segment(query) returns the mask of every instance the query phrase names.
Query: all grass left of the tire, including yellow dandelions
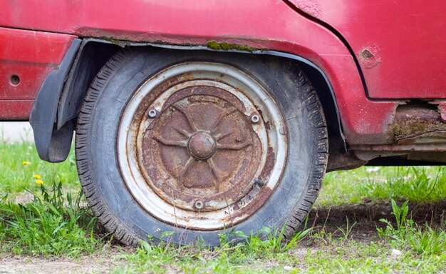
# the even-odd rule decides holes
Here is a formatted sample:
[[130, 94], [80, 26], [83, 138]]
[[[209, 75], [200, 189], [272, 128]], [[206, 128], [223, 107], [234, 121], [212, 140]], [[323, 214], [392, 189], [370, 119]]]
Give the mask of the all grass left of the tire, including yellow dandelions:
[[63, 163], [46, 163], [31, 144], [3, 142], [0, 155], [0, 253], [77, 256], [103, 245], [73, 151]]

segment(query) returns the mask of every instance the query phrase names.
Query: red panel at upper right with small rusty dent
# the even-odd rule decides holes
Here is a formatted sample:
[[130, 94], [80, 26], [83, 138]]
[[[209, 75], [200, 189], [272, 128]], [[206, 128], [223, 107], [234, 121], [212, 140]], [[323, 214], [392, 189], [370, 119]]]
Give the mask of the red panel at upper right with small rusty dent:
[[370, 98], [446, 98], [446, 1], [290, 2], [346, 39]]

